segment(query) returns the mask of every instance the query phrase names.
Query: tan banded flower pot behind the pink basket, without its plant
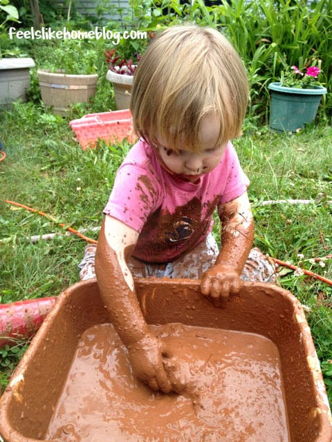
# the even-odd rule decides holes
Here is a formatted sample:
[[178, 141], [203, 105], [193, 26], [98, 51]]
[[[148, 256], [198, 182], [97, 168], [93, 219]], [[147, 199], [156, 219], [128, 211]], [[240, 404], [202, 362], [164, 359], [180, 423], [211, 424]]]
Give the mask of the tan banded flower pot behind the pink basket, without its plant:
[[42, 100], [46, 107], [53, 108], [53, 113], [66, 115], [71, 104], [89, 102], [95, 95], [98, 75], [66, 75], [61, 71], [37, 71]]

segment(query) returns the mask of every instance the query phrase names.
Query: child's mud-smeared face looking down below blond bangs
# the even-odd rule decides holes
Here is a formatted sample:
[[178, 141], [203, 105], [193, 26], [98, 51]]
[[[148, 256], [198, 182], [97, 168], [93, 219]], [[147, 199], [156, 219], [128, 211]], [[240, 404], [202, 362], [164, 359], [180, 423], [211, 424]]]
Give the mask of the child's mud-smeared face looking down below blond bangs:
[[220, 123], [215, 115], [208, 115], [203, 119], [199, 134], [201, 149], [199, 152], [174, 150], [172, 146], [165, 146], [163, 140], [158, 144], [158, 151], [169, 171], [180, 175], [185, 180], [196, 181], [214, 169], [225, 153], [227, 142], [216, 145], [219, 137]]

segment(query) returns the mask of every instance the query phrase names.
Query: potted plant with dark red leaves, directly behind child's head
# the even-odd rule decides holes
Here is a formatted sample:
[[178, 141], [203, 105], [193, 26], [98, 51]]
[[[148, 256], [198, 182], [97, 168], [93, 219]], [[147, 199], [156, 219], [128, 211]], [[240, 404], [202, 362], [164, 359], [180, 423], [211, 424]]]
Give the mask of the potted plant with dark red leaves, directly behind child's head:
[[[150, 35], [151, 37], [151, 35]], [[130, 105], [133, 74], [147, 40], [120, 39], [118, 46], [105, 52], [109, 70], [106, 78], [113, 83], [116, 108], [128, 109]]]

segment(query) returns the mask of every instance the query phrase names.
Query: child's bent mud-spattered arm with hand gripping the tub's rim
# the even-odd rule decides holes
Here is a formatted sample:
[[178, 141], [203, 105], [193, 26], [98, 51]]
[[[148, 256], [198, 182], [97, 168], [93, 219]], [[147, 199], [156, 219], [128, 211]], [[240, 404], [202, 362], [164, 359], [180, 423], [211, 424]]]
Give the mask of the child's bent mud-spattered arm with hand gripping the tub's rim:
[[212, 298], [228, 298], [239, 293], [243, 266], [254, 240], [254, 220], [248, 194], [219, 204], [221, 220], [221, 251], [216, 264], [205, 271], [201, 282], [201, 292]]

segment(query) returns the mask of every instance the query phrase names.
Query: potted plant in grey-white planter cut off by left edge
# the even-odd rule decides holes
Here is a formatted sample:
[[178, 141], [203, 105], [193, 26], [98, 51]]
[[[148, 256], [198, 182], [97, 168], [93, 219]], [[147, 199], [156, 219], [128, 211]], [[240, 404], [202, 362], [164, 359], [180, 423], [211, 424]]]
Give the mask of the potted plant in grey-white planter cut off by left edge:
[[[17, 8], [0, 0], [1, 41], [9, 46], [8, 22], [19, 21]], [[7, 46], [7, 45], [6, 45]], [[23, 57], [21, 52], [0, 47], [0, 108], [9, 108], [13, 102], [26, 100], [26, 89], [30, 86], [30, 68], [35, 62], [30, 57]]]

